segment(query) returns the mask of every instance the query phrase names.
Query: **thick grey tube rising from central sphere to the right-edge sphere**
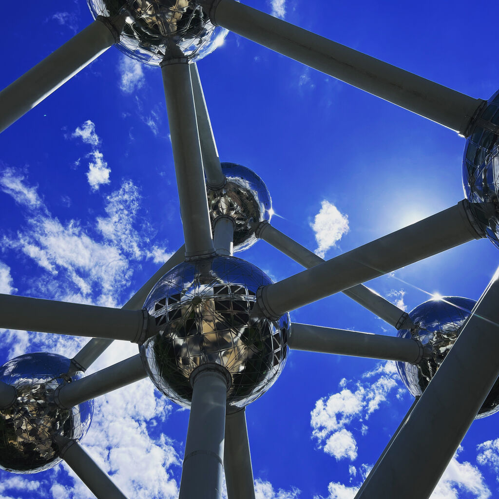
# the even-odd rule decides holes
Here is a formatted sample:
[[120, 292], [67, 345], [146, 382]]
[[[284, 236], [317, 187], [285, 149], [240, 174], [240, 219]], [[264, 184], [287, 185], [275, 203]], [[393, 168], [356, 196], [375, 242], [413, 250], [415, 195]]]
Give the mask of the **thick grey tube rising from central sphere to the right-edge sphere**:
[[269, 318], [348, 289], [473, 239], [467, 201], [343, 253], [275, 284], [259, 288], [253, 314]]

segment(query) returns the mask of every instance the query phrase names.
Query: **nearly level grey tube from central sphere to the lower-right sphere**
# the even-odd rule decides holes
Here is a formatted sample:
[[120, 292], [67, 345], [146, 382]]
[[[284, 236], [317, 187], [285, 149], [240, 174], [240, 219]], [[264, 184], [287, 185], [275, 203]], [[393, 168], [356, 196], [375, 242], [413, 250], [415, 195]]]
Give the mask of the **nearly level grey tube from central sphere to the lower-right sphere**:
[[288, 337], [291, 350], [335, 353], [353, 357], [400, 360], [416, 364], [423, 357], [419, 341], [293, 322]]

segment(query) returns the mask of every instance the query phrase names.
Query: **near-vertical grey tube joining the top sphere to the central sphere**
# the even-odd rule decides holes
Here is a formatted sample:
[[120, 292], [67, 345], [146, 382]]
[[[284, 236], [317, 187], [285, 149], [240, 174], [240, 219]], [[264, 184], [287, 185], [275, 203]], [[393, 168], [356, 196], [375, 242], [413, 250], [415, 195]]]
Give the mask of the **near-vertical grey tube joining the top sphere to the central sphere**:
[[161, 72], [170, 123], [186, 256], [213, 254], [215, 250], [188, 61], [187, 59], [164, 61]]

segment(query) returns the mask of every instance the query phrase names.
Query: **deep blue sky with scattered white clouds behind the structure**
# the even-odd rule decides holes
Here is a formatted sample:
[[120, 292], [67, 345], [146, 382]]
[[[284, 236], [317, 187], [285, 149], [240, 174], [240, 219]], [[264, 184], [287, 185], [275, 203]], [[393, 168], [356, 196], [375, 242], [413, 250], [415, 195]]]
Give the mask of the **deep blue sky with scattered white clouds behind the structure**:
[[[248, 3], [473, 97], [497, 90], [493, 2]], [[90, 22], [82, 0], [30, 2], [4, 25], [0, 87]], [[465, 141], [448, 129], [234, 34], [198, 67], [222, 161], [260, 175], [273, 225], [326, 258], [463, 199]], [[160, 71], [114, 47], [1, 134], [0, 168], [1, 292], [120, 306], [183, 243]], [[237, 256], [273, 279], [301, 270], [264, 242]], [[369, 286], [407, 310], [434, 292], [477, 299], [498, 260], [474, 241]], [[343, 295], [291, 319], [395, 334]], [[1, 363], [86, 341], [2, 338]], [[136, 352], [115, 342], [93, 368]], [[291, 352], [247, 409], [258, 499], [353, 498], [411, 403], [390, 363]], [[497, 496], [497, 417], [472, 425], [434, 499]], [[175, 498], [187, 422], [144, 380], [96, 400], [83, 444], [130, 498]], [[65, 465], [0, 472], [0, 498], [39, 497], [92, 496]]]

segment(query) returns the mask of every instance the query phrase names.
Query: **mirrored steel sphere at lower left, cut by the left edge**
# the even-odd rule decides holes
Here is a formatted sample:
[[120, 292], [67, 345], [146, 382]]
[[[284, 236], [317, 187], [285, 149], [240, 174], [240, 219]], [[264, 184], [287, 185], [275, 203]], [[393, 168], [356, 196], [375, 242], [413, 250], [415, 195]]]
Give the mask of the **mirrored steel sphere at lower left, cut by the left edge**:
[[0, 380], [17, 390], [17, 399], [0, 410], [0, 468], [37, 473], [60, 463], [57, 440], [81, 439], [93, 415], [93, 401], [72, 409], [54, 403], [54, 391], [78, 379], [68, 376], [71, 361], [53, 353], [32, 353], [0, 367]]

